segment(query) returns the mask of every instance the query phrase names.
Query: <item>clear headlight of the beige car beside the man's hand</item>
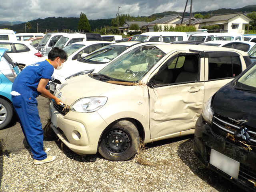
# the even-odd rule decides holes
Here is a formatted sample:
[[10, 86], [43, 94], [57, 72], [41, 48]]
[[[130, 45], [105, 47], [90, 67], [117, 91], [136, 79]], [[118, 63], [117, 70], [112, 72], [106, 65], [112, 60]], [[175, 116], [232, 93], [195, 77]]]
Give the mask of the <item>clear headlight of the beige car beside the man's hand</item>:
[[71, 105], [71, 110], [80, 113], [90, 113], [100, 109], [107, 102], [107, 97], [85, 97]]

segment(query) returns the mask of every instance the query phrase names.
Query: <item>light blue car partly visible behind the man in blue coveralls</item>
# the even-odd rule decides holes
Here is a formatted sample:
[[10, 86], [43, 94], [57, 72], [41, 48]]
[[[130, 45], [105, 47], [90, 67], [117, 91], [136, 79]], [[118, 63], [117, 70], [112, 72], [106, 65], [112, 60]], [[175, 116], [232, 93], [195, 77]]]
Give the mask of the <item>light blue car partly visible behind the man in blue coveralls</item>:
[[0, 129], [12, 120], [14, 108], [10, 92], [14, 79], [20, 73], [17, 63], [6, 54], [7, 50], [0, 48]]

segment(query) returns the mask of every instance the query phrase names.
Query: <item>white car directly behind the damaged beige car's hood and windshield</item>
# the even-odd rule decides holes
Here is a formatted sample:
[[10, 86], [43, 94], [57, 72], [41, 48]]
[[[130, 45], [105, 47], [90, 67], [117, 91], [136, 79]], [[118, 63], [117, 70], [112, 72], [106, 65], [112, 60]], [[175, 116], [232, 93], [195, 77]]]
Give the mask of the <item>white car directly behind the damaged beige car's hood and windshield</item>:
[[[91, 54], [78, 58], [72, 62], [65, 62], [61, 70], [54, 70], [50, 81], [50, 92], [54, 92], [60, 84], [74, 76], [98, 72], [107, 66], [117, 56], [129, 51], [134, 46], [152, 44], [152, 42], [126, 41], [104, 46]], [[169, 44], [166, 42], [154, 42], [154, 44]]]

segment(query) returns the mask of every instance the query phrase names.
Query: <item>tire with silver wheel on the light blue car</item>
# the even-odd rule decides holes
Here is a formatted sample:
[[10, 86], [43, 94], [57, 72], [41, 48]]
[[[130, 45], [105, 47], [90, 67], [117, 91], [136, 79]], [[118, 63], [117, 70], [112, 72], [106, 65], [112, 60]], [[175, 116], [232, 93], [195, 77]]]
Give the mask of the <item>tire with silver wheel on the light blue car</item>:
[[0, 129], [6, 127], [13, 116], [13, 107], [8, 101], [0, 98]]

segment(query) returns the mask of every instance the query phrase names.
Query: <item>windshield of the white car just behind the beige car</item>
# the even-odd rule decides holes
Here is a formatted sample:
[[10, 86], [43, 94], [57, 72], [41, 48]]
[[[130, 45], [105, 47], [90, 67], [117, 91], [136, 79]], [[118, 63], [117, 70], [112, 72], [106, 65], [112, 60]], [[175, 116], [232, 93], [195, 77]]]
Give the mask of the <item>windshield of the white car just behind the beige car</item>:
[[78, 59], [78, 61], [92, 64], [104, 64], [116, 58], [129, 47], [130, 46], [126, 45], [107, 45], [92, 52], [88, 56]]

